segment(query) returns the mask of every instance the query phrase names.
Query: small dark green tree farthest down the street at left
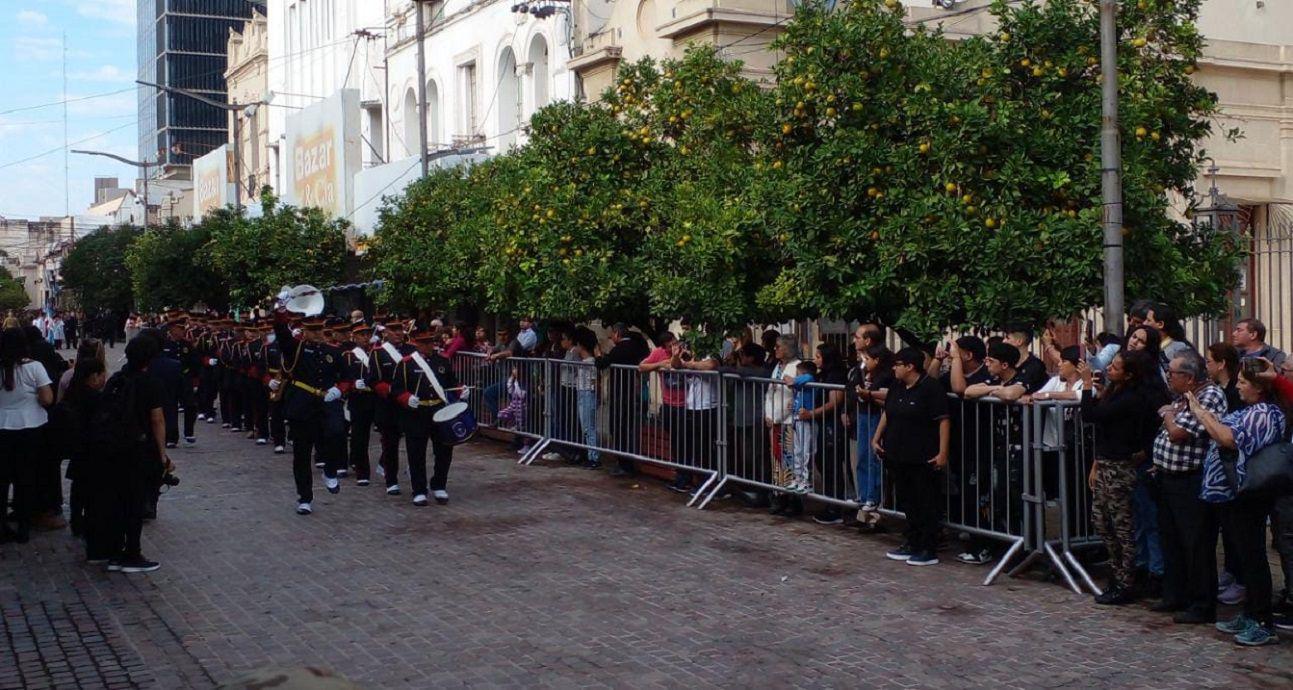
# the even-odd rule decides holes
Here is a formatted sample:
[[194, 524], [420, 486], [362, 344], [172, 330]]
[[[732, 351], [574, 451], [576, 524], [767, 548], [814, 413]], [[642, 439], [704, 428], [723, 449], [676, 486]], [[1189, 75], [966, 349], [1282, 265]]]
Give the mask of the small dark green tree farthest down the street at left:
[[138, 227], [101, 227], [72, 246], [63, 258], [65, 289], [78, 295], [81, 309], [96, 313], [109, 309], [119, 314], [132, 305], [131, 275], [125, 253], [140, 236]]

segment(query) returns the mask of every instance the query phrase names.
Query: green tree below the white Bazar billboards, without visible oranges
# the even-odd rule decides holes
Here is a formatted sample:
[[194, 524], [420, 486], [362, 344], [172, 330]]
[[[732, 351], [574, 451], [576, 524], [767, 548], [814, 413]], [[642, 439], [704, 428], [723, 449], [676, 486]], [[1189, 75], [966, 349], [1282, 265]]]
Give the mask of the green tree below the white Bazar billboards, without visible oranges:
[[345, 265], [345, 221], [317, 208], [261, 199], [264, 213], [248, 218], [225, 208], [203, 218], [209, 255], [229, 288], [229, 304], [250, 308], [273, 298], [283, 286], [340, 282]]

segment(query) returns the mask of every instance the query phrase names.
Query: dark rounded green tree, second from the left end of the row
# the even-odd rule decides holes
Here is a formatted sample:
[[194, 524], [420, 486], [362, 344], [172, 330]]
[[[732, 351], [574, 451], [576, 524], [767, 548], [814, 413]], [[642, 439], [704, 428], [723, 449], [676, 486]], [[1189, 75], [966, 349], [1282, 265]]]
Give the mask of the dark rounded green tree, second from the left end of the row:
[[137, 309], [187, 309], [199, 302], [219, 310], [229, 306], [229, 288], [208, 251], [213, 225], [199, 222], [184, 227], [172, 221], [134, 239], [125, 253], [125, 265]]

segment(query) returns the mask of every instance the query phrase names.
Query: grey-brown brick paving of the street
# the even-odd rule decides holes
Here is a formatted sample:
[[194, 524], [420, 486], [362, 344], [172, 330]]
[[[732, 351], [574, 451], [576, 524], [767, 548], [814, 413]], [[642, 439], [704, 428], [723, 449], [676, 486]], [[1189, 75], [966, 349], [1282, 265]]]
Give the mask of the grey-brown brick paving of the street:
[[287, 456], [204, 425], [145, 527], [149, 575], [66, 532], [0, 547], [0, 689], [211, 687], [269, 665], [366, 687], [1289, 686], [1293, 640], [1236, 649], [1140, 607], [654, 481], [459, 448], [453, 503], [347, 481], [294, 514]]

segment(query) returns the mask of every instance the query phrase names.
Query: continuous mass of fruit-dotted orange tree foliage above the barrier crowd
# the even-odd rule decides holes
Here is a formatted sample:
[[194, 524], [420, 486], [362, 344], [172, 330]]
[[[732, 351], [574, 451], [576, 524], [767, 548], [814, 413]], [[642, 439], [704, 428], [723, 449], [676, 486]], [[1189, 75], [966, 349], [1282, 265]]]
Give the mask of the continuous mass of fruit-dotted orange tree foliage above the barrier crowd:
[[[1230, 238], [1171, 220], [1215, 97], [1190, 80], [1199, 0], [1124, 5], [1127, 293], [1218, 310]], [[388, 200], [374, 273], [403, 308], [644, 323], [879, 317], [928, 335], [1102, 298], [1099, 26], [997, 3], [949, 41], [899, 3], [800, 4], [764, 90], [712, 48], [621, 67], [537, 112], [524, 147]]]

